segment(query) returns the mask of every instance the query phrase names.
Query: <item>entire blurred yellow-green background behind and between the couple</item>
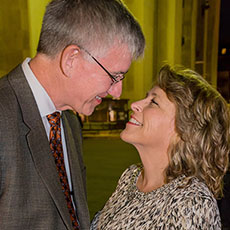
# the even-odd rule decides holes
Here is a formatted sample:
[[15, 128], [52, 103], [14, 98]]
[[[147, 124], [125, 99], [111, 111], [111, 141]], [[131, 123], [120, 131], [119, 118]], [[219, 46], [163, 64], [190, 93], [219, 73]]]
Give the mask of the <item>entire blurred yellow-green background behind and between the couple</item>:
[[[0, 76], [36, 54], [49, 0], [0, 0]], [[124, 0], [140, 22], [146, 50], [132, 64], [120, 99], [106, 98], [83, 125], [91, 217], [116, 187], [121, 173], [139, 158], [119, 139], [130, 103], [145, 96], [165, 63], [200, 73], [230, 101], [229, 0]]]

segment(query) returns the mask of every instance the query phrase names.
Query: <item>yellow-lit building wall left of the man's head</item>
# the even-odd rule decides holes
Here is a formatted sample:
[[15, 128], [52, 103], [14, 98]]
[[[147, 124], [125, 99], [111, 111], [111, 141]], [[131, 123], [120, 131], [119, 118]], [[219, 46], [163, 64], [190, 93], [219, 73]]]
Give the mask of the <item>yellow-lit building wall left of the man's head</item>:
[[0, 76], [36, 53], [42, 17], [49, 0], [1, 0]]

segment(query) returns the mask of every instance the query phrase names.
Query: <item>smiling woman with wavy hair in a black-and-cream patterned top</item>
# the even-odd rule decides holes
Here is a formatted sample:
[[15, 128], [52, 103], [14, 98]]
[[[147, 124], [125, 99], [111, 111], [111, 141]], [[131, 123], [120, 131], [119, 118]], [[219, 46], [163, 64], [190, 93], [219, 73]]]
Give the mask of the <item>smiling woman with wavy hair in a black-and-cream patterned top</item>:
[[230, 149], [225, 100], [197, 73], [166, 65], [131, 108], [121, 138], [142, 164], [122, 174], [91, 229], [221, 229], [216, 198]]

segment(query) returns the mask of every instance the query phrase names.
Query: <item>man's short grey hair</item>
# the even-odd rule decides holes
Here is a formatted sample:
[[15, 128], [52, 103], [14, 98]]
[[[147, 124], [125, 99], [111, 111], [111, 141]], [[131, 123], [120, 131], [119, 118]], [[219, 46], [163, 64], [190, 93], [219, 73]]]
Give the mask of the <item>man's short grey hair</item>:
[[55, 56], [74, 44], [99, 55], [115, 41], [127, 44], [133, 59], [144, 53], [141, 27], [120, 0], [52, 0], [37, 51]]

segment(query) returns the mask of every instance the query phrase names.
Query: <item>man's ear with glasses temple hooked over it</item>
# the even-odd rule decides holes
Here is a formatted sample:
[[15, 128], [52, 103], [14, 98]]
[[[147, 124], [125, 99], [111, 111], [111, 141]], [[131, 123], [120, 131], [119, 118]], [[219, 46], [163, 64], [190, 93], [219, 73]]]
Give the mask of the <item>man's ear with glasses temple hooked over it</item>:
[[76, 45], [67, 46], [60, 57], [60, 68], [66, 77], [71, 77], [74, 61], [77, 60], [80, 48]]

